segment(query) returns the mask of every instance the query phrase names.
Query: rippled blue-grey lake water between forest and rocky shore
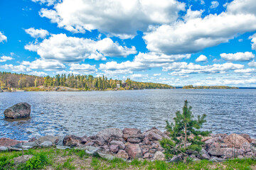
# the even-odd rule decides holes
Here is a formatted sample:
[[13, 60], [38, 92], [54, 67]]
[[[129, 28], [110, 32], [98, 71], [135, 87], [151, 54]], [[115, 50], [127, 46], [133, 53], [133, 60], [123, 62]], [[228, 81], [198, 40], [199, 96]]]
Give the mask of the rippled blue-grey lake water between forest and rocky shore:
[[[95, 135], [104, 128], [164, 130], [188, 100], [194, 115], [207, 114], [205, 130], [256, 137], [255, 89], [159, 89], [140, 91], [0, 93], [0, 137]], [[4, 120], [4, 109], [31, 104], [31, 119]], [[196, 116], [195, 116], [196, 117]]]

